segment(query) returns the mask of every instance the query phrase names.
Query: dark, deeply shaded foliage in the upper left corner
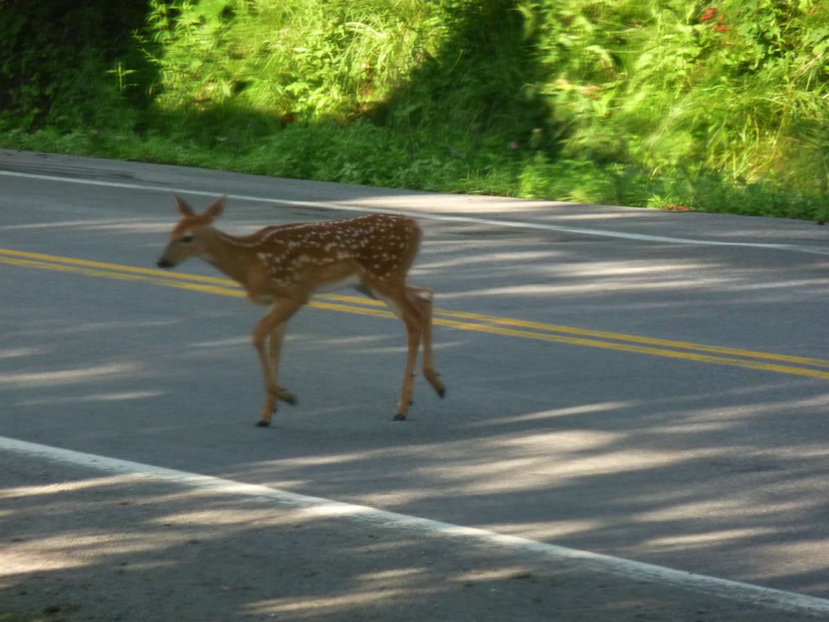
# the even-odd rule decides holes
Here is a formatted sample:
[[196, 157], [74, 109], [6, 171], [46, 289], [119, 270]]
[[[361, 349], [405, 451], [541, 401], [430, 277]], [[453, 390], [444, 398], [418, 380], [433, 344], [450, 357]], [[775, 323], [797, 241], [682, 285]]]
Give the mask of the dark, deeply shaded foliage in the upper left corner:
[[143, 18], [134, 3], [4, 0], [0, 127], [72, 131], [132, 119], [143, 90], [134, 88], [124, 63], [143, 64], [129, 34]]

